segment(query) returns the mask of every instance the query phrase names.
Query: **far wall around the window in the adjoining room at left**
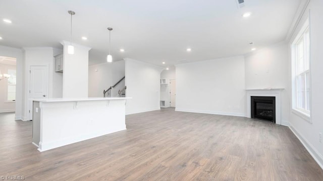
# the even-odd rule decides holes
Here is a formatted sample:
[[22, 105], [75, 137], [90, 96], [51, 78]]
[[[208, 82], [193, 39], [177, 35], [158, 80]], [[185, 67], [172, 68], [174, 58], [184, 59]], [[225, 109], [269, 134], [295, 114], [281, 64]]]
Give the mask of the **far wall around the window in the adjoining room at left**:
[[[8, 69], [16, 70], [15, 65], [7, 65], [0, 63], [0, 72], [2, 74], [8, 73]], [[8, 88], [8, 78], [0, 80], [0, 113], [15, 112], [16, 103], [8, 102], [7, 100], [7, 88]]]

